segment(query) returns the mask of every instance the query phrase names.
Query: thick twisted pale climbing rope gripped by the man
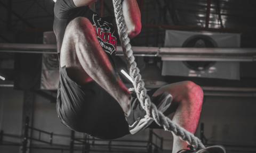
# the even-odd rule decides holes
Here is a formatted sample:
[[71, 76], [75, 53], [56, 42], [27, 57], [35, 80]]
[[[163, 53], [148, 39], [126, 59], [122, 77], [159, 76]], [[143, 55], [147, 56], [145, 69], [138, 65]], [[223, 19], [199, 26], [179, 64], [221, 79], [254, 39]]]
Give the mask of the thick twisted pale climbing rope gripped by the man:
[[141, 106], [143, 107], [143, 109], [145, 109], [147, 115], [153, 118], [158, 125], [163, 126], [166, 131], [173, 132], [182, 140], [187, 141], [189, 145], [194, 146], [195, 149], [205, 148], [200, 139], [195, 137], [194, 134], [183, 129], [178, 124], [172, 122], [170, 118], [164, 116], [164, 114], [162, 112], [159, 112], [156, 106], [151, 103], [150, 97], [147, 95], [147, 90], [144, 87], [145, 83], [141, 79], [140, 70], [137, 67], [137, 63], [134, 61], [132, 46], [130, 44], [130, 39], [127, 34], [127, 27], [124, 21], [121, 2], [122, 0], [113, 0], [116, 24], [121, 40], [121, 45], [123, 47], [126, 64], [130, 73], [130, 77], [133, 80], [134, 90], [137, 94]]

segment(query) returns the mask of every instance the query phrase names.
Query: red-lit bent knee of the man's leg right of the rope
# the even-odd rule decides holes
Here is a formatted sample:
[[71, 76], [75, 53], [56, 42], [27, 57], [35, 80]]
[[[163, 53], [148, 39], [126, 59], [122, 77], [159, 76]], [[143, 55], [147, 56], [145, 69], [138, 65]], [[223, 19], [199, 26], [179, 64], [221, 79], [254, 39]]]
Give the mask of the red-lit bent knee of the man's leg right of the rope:
[[192, 81], [185, 81], [185, 94], [183, 98], [186, 98], [188, 103], [192, 105], [202, 105], [204, 92], [203, 89]]

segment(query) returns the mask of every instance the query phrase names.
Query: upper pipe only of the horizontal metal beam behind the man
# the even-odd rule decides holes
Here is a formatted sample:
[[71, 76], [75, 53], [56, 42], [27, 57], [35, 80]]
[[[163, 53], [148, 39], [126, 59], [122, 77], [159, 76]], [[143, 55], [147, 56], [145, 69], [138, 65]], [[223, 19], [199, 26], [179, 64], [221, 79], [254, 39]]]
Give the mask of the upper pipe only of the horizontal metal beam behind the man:
[[[169, 48], [169, 47], [132, 47], [133, 51], [138, 54], [161, 54], [161, 55], [173, 55], [173, 54], [206, 54], [206, 55], [256, 55], [256, 48]], [[0, 52], [42, 52], [42, 53], [57, 53], [56, 45], [49, 44], [9, 44], [9, 43], [0, 43]], [[117, 46], [117, 54], [122, 53], [122, 47]]]

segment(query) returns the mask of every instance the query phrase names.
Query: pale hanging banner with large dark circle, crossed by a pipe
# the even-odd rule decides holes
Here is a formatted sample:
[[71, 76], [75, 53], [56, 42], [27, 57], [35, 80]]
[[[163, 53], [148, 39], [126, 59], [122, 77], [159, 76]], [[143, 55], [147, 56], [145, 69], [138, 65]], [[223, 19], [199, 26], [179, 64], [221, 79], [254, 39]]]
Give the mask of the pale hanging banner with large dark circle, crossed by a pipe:
[[[165, 47], [236, 48], [240, 34], [166, 30]], [[163, 61], [162, 75], [239, 80], [239, 62]]]

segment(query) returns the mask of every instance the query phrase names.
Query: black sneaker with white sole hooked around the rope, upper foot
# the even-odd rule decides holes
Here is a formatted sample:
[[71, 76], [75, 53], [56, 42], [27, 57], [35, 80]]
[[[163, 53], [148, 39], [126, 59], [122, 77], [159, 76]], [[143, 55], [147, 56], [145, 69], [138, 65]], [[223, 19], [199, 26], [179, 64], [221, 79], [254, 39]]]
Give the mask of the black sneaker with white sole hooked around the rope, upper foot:
[[[171, 101], [172, 96], [167, 92], [164, 92], [157, 97], [152, 97], [152, 102], [156, 104], [157, 109], [161, 112], [166, 111], [166, 109], [171, 105]], [[137, 97], [131, 100], [130, 108], [131, 111], [126, 116], [126, 121], [129, 124], [129, 131], [131, 134], [135, 134], [145, 129], [153, 122], [153, 119], [149, 117], [146, 111], [141, 107]]]

